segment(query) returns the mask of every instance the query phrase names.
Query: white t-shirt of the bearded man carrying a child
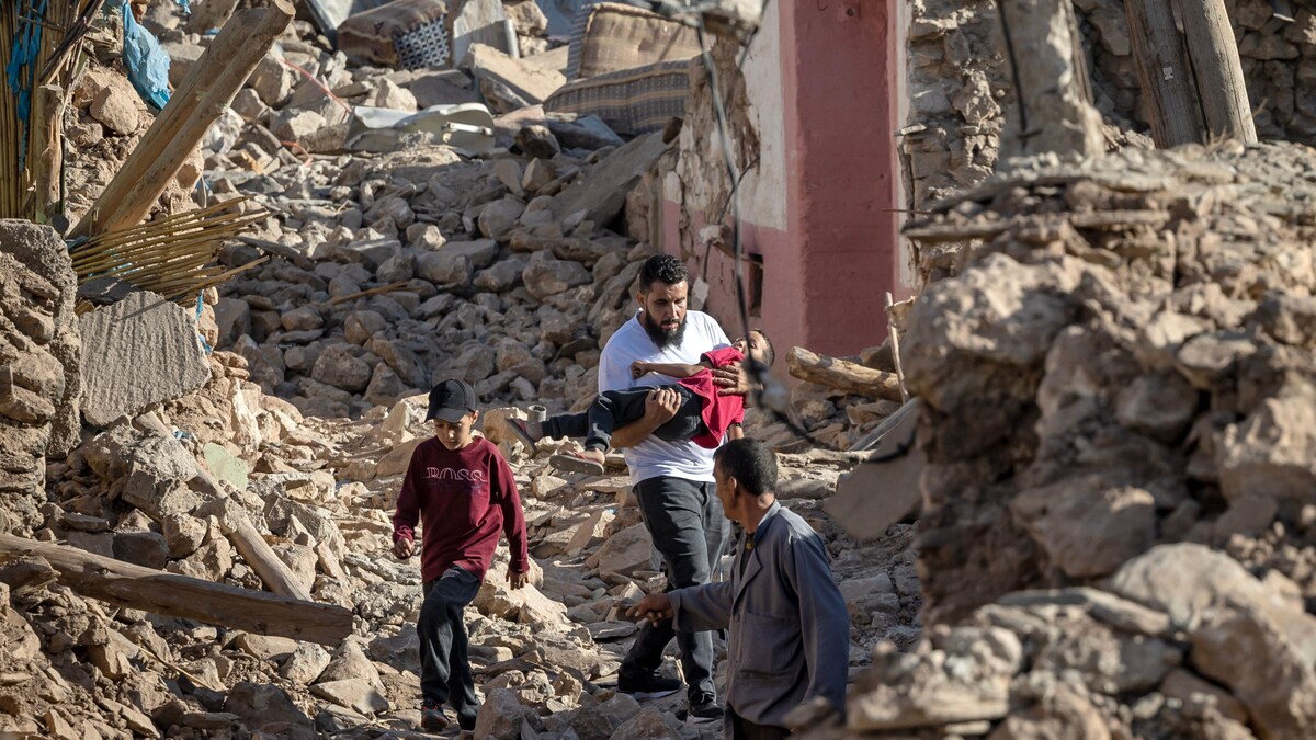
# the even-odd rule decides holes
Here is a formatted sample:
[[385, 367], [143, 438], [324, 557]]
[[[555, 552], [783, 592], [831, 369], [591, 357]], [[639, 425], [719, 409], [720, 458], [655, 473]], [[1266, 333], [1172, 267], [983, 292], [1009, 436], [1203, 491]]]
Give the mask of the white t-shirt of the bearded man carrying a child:
[[[663, 362], [675, 365], [695, 365], [705, 352], [728, 346], [732, 342], [712, 316], [700, 311], [686, 312], [686, 334], [679, 345], [658, 349], [645, 328], [640, 324], [637, 311], [629, 321], [612, 334], [599, 358], [599, 392], [624, 391], [637, 386], [669, 386], [676, 379], [658, 373], [649, 373], [638, 381], [630, 377], [630, 363]], [[649, 436], [633, 448], [622, 450], [630, 467], [630, 483], [671, 475], [686, 481], [713, 479], [713, 450], [691, 441], [669, 442]]]

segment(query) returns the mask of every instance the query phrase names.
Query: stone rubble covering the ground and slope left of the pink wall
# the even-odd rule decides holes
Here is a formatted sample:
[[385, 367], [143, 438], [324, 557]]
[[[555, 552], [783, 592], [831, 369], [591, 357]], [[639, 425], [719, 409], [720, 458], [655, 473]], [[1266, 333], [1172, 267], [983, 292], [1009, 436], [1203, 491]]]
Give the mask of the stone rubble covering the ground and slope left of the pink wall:
[[[150, 4], [146, 22], [174, 57], [174, 75], [199, 55], [204, 18]], [[533, 21], [521, 28], [528, 38], [537, 38]], [[499, 433], [513, 406], [557, 411], [592, 396], [599, 348], [629, 317], [638, 263], [653, 253], [634, 238], [647, 204], [628, 194], [666, 149], [662, 134], [622, 142], [597, 124], [501, 100], [492, 107], [511, 112], [491, 155], [415, 142], [345, 154], [347, 104], [415, 109], [499, 90], [459, 71], [357, 67], [296, 25], [162, 199], [166, 209], [218, 199], [270, 213], [224, 254], [229, 266], [270, 262], [203, 296], [197, 332], [213, 350], [196, 358], [200, 387], [133, 423], [137, 410], [84, 425], [79, 438], [87, 319], [74, 304], [84, 296], [74, 295], [50, 232], [3, 230], [0, 258], [14, 269], [0, 275], [0, 349], [16, 370], [0, 387], [0, 520], [18, 536], [262, 589], [230, 537], [238, 512], [315, 599], [353, 611], [354, 633], [325, 648], [111, 607], [55, 582], [49, 564], [18, 558], [0, 565], [0, 731], [413, 732], [418, 561], [388, 554], [391, 515], [426, 435], [420, 394], [461, 377], [487, 403], [483, 431], [517, 471], [537, 565], [522, 591], [507, 590], [495, 568], [467, 612], [486, 702], [475, 735], [717, 735], [716, 724], [680, 722], [679, 697], [638, 704], [609, 689], [634, 632], [615, 604], [662, 586], [624, 467], [557, 474], [546, 454], [529, 460]], [[92, 34], [100, 65], [70, 113], [71, 216], [153, 120], [114, 66], [116, 38], [112, 25]], [[93, 362], [83, 349], [82, 361]], [[883, 353], [873, 356], [880, 365]], [[792, 402], [808, 429], [837, 445], [895, 408], [811, 384]], [[807, 445], [780, 423], [755, 417], [751, 433], [790, 450], [788, 503], [826, 536], [851, 607], [851, 668], [883, 641], [915, 644], [912, 527], [854, 542], [820, 506], [842, 467], [795, 454]], [[217, 492], [200, 483], [201, 470]]]

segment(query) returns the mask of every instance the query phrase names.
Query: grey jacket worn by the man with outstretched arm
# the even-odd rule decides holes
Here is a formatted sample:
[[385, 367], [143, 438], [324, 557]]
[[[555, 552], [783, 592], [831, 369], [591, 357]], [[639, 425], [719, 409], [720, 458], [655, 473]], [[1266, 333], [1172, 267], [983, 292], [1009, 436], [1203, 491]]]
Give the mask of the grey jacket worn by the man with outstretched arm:
[[[832, 581], [826, 548], [799, 515], [774, 503], [732, 579], [667, 594], [683, 632], [729, 628], [726, 704], [740, 716], [784, 727], [807, 698], [845, 711], [850, 615]], [[741, 560], [745, 575], [741, 575]]]

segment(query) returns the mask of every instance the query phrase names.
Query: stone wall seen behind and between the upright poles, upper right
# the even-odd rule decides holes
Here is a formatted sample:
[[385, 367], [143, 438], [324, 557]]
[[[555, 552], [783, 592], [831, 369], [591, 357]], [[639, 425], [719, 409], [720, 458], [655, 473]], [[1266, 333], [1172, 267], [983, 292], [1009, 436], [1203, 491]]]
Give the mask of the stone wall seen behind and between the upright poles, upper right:
[[[1286, 21], [1270, 0], [1225, 0], [1262, 140], [1316, 144], [1316, 13]], [[1074, 0], [1092, 97], [1107, 124], [1148, 133], [1123, 0]], [[909, 120], [901, 154], [909, 205], [983, 182], [1012, 115], [1009, 63], [991, 0], [915, 0]]]

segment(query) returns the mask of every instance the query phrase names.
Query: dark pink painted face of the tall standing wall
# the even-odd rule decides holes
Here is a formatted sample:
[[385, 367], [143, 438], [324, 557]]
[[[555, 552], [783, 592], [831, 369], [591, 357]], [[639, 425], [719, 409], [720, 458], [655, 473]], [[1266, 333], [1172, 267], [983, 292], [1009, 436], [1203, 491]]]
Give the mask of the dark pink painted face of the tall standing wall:
[[896, 300], [908, 292], [899, 284], [895, 212], [896, 13], [873, 0], [775, 5], [788, 244], [765, 255], [765, 290], [792, 300], [765, 304], [765, 321], [797, 325], [816, 352], [848, 354], [886, 337], [884, 291]]

